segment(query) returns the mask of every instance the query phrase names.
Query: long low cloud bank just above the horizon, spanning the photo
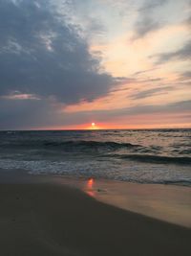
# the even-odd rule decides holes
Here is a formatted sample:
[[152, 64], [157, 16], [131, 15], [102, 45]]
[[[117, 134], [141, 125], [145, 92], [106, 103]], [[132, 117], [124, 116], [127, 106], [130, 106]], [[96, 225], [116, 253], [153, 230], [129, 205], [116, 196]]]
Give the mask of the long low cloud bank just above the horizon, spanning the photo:
[[[60, 105], [51, 100], [3, 99], [0, 101], [0, 129], [64, 128], [65, 126], [76, 126], [77, 128], [77, 125], [90, 123], [93, 119], [97, 123], [113, 122], [117, 124], [118, 118], [126, 120], [126, 122], [133, 118], [137, 122], [140, 121], [141, 116], [146, 115], [153, 115], [152, 122], [155, 123], [156, 114], [159, 114], [157, 120], [168, 114], [185, 117], [190, 113], [190, 109], [191, 101], [183, 101], [168, 105], [136, 105], [120, 109], [67, 113], [60, 111]], [[187, 118], [187, 121], [189, 120]], [[141, 122], [144, 123], [144, 120]], [[134, 126], [133, 123], [131, 125]]]

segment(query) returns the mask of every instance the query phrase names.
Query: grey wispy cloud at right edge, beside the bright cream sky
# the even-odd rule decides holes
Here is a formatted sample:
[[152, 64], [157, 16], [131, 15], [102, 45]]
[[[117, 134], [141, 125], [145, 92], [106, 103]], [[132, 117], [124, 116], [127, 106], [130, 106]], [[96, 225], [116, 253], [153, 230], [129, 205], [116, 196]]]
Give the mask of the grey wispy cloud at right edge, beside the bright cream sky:
[[166, 61], [181, 59], [187, 60], [191, 59], [191, 41], [188, 41], [182, 48], [178, 51], [170, 52], [170, 53], [162, 53], [159, 55], [152, 56], [151, 58], [157, 58], [157, 64], [161, 64]]

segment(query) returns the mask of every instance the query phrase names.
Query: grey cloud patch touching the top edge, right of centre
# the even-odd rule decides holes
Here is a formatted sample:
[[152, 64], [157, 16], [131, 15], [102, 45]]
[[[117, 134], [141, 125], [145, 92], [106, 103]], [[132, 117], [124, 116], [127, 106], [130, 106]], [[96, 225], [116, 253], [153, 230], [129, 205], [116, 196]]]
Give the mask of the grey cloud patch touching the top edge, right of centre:
[[159, 30], [162, 26], [159, 20], [153, 17], [153, 11], [159, 8], [163, 4], [168, 2], [167, 0], [146, 0], [142, 7], [138, 9], [138, 21], [135, 24], [135, 36], [134, 39], [141, 38], [153, 31]]

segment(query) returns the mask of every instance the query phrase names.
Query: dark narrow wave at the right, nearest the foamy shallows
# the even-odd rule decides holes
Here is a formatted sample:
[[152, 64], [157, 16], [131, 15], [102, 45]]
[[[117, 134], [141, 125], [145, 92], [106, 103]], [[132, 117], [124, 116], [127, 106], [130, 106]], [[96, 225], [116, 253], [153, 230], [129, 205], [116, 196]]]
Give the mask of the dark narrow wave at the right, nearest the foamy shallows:
[[152, 154], [110, 154], [110, 156], [115, 156], [121, 159], [136, 160], [139, 162], [146, 163], [159, 163], [159, 164], [191, 164], [191, 157], [173, 157], [173, 156], [163, 156], [163, 155], [152, 155]]

